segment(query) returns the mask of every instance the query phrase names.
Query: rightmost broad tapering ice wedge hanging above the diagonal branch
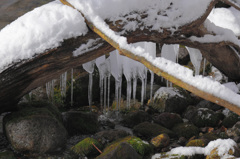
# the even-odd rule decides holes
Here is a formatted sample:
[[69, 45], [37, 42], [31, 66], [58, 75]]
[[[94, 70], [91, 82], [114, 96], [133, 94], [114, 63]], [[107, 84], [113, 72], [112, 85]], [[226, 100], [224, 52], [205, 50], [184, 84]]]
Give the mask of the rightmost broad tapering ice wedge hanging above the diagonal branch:
[[199, 75], [200, 73], [200, 67], [202, 62], [202, 54], [200, 50], [186, 47], [188, 50], [188, 53], [190, 55], [190, 60], [195, 68], [195, 75]]

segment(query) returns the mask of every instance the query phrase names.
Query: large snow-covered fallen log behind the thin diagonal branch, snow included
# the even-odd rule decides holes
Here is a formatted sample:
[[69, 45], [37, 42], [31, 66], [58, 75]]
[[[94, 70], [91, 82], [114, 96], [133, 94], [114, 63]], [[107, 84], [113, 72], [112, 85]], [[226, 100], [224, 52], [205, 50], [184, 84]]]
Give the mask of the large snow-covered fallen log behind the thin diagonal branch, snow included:
[[[189, 2], [187, 0], [181, 1], [182, 3]], [[81, 2], [81, 0], [78, 2]], [[161, 3], [161, 0], [156, 0], [154, 2], [158, 4]], [[206, 20], [218, 0], [204, 0], [201, 2], [194, 0], [190, 2], [190, 5], [194, 5], [194, 3], [197, 2], [202, 5], [202, 8], [201, 10], [198, 10], [198, 14], [194, 14], [195, 17], [190, 17], [191, 20], [189, 20], [187, 17], [183, 17], [190, 15], [190, 13], [174, 15], [172, 17], [173, 13], [177, 14], [177, 12], [172, 12], [172, 10], [175, 10], [176, 7], [180, 6], [178, 5], [180, 4], [179, 0], [171, 0], [165, 2], [165, 9], [153, 9], [151, 8], [151, 5], [148, 6], [149, 8], [142, 8], [142, 10], [136, 10], [134, 7], [129, 7], [130, 10], [124, 10], [124, 14], [117, 16], [114, 14], [109, 14], [109, 17], [106, 17], [106, 15], [103, 14], [101, 16], [103, 19], [105, 19], [105, 22], [108, 24], [110, 29], [126, 37], [128, 43], [152, 41], [156, 43], [182, 44], [197, 48], [202, 51], [202, 54], [205, 58], [207, 58], [219, 70], [225, 73], [225, 75], [233, 80], [240, 81], [240, 47], [237, 36], [234, 35], [234, 33], [231, 31], [226, 33], [226, 29], [211, 25], [212, 23], [210, 23], [209, 20]], [[74, 3], [77, 3], [77, 1]], [[49, 7], [51, 9], [48, 8], [48, 5], [51, 5]], [[195, 5], [199, 7], [199, 4]], [[52, 21], [59, 18], [59, 16], [63, 16], [61, 13], [57, 12], [57, 9], [55, 10], [54, 7], [56, 6], [58, 6], [57, 9], [61, 13], [71, 12], [72, 14], [75, 14], [76, 17], [79, 16], [81, 18], [81, 14], [77, 14], [73, 11], [68, 11], [67, 8], [61, 6], [60, 2], [57, 1], [40, 7], [38, 10], [44, 12], [48, 9], [47, 11], [50, 12], [53, 16], [48, 16], [44, 20]], [[189, 6], [187, 7], [189, 8]], [[181, 11], [181, 8], [178, 9]], [[28, 13], [28, 16], [33, 16], [31, 18], [31, 23], [38, 22], [39, 20], [37, 18], [39, 15], [36, 14], [36, 12], [37, 11], [34, 10]], [[192, 12], [195, 13], [196, 11], [192, 10]], [[25, 18], [28, 19], [26, 16]], [[65, 17], [65, 19], [66, 18], [68, 18], [68, 20], [70, 19], [67, 21], [69, 24], [72, 22], [72, 25], [74, 25], [76, 19]], [[172, 20], [178, 23], [174, 25], [160, 23], [163, 22], [162, 20], [164, 20], [164, 18], [168, 18], [166, 22], [171, 22]], [[24, 17], [22, 20], [24, 20]], [[1, 36], [3, 36], [5, 32], [11, 31], [14, 26], [17, 26], [17, 23], [19, 21], [21, 21], [21, 18], [13, 22], [10, 26], [1, 30], [1, 46], [1, 43], [4, 39]], [[60, 20], [58, 20], [58, 22], [59, 21]], [[63, 23], [62, 21], [54, 24], [49, 23], [50, 26], [47, 29], [52, 29], [53, 31], [53, 34], [50, 35], [59, 35], [59, 32], [63, 31], [61, 27], [65, 28], [70, 26], [68, 23], [66, 23]], [[27, 22], [24, 23], [24, 25], [27, 25]], [[26, 57], [24, 56], [22, 58], [12, 58], [14, 60], [7, 58], [9, 62], [0, 63], [0, 112], [15, 108], [15, 104], [24, 94], [28, 93], [38, 86], [44, 85], [46, 82], [50, 81], [53, 78], [58, 78], [63, 72], [69, 70], [70, 68], [82, 65], [83, 63], [96, 59], [103, 54], [108, 54], [114, 50], [111, 45], [101, 39], [97, 34], [91, 30], [88, 30], [85, 26], [85, 23], [82, 23], [81, 19], [79, 19], [79, 24], [72, 29], [77, 30], [77, 27], [79, 27], [79, 29], [80, 27], [81, 29], [85, 28], [85, 30], [83, 29], [84, 31], [78, 35], [72, 33], [71, 35], [64, 36], [63, 38], [61, 37], [62, 39], [55, 42], [54, 44], [47, 43], [46, 45], [39, 47], [38, 45], [40, 45], [40, 43], [36, 42], [34, 45], [31, 45], [31, 49], [23, 50], [23, 52], [29, 51], [31, 54], [30, 57], [27, 55]], [[34, 27], [28, 27], [27, 32], [29, 32], [29, 29], [30, 31], [32, 29], [32, 32], [36, 31]], [[58, 32], [57, 29], [60, 31]], [[212, 29], [217, 29], [217, 31], [214, 32]], [[225, 36], [226, 34], [228, 37]], [[24, 37], [26, 38], [26, 36]], [[14, 35], [9, 37], [10, 41], [8, 42], [11, 42], [11, 44], [13, 43], [12, 45], [14, 45], [14, 42], [16, 42], [14, 41], [14, 38]], [[49, 38], [50, 39], [44, 39], [40, 42], [55, 40], [54, 38], [52, 39], [52, 37]], [[216, 39], [220, 40], [217, 41]], [[17, 40], [19, 41], [19, 39]], [[25, 40], [29, 42], [28, 39]], [[30, 40], [29, 43], [31, 44], [31, 42], [32, 41]], [[9, 43], [3, 44], [9, 45]], [[35, 48], [33, 49], [32, 46], [35, 46]], [[8, 47], [11, 46], [9, 45]], [[12, 52], [14, 53], [15, 51], [15, 54], [20, 54], [22, 50], [15, 49], [13, 51], [8, 51], [8, 49], [2, 49], [2, 52], [0, 52], [0, 57], [4, 59], [7, 55], [9, 55], [11, 58], [11, 56], [13, 56], [11, 54]]]

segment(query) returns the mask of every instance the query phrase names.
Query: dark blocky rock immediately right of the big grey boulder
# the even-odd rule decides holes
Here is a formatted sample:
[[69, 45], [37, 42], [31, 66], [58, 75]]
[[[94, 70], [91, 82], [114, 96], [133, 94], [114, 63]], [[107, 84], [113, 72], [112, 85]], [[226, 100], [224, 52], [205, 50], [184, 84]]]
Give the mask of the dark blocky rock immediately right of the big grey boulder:
[[95, 113], [70, 111], [63, 113], [64, 125], [70, 135], [94, 134], [98, 131], [98, 117]]

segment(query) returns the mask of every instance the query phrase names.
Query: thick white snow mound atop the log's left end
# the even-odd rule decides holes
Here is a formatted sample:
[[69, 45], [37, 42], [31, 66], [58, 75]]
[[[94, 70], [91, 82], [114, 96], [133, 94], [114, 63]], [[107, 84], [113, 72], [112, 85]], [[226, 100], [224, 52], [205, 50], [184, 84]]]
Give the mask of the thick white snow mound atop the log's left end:
[[58, 1], [36, 8], [0, 31], [0, 72], [87, 32], [81, 14]]

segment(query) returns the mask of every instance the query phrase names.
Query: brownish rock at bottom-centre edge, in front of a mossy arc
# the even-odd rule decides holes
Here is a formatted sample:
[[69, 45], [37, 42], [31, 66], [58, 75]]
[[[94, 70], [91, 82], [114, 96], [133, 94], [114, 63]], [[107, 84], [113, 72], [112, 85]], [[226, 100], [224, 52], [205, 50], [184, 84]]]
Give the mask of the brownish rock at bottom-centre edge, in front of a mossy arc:
[[128, 143], [122, 142], [115, 147], [107, 147], [96, 159], [141, 159], [142, 157]]

